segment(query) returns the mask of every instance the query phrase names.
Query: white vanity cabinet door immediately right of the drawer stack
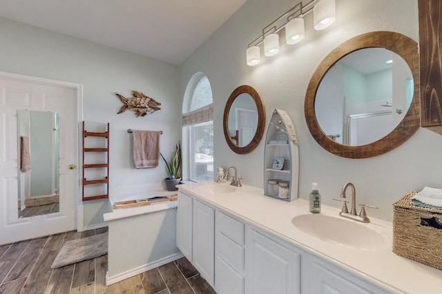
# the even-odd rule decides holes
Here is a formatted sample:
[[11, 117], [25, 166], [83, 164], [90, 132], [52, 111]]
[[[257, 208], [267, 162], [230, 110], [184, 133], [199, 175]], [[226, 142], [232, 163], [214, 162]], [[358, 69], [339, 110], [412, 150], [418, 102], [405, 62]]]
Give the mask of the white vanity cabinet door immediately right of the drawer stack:
[[300, 253], [273, 240], [247, 230], [246, 293], [299, 294]]

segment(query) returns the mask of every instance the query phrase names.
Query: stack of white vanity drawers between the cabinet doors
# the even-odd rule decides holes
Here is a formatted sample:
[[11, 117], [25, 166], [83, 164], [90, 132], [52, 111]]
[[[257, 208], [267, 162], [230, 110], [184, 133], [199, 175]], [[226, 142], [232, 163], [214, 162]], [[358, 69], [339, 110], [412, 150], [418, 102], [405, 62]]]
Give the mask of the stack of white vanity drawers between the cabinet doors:
[[215, 212], [215, 289], [218, 294], [244, 293], [244, 223]]

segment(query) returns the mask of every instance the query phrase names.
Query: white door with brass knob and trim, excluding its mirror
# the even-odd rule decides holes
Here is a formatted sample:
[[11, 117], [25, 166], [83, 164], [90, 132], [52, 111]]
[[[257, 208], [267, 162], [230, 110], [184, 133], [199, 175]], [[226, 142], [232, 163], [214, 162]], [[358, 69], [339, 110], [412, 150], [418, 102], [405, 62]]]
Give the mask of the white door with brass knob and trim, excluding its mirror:
[[[76, 229], [79, 191], [77, 97], [80, 94], [79, 84], [0, 72], [0, 244]], [[18, 109], [59, 114], [57, 213], [26, 218], [18, 216]], [[69, 165], [75, 165], [75, 168], [69, 169]]]

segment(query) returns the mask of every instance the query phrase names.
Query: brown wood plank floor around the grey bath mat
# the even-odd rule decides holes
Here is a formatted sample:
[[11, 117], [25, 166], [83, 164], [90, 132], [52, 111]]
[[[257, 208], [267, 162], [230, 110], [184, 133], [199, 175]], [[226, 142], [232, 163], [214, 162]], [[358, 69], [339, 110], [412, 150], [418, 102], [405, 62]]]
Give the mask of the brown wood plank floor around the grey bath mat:
[[0, 246], [0, 293], [215, 293], [186, 258], [111, 286], [106, 286], [107, 255], [50, 269], [64, 242], [106, 231], [107, 228], [70, 231]]

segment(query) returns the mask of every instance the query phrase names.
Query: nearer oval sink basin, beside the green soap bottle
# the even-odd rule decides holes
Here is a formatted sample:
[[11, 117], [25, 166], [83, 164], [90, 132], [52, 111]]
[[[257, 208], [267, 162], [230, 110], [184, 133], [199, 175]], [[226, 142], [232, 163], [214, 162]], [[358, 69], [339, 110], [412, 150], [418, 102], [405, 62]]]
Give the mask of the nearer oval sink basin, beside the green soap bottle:
[[347, 220], [339, 216], [303, 214], [291, 220], [301, 231], [326, 242], [352, 249], [379, 251], [389, 246], [387, 238], [369, 227], [369, 224]]

